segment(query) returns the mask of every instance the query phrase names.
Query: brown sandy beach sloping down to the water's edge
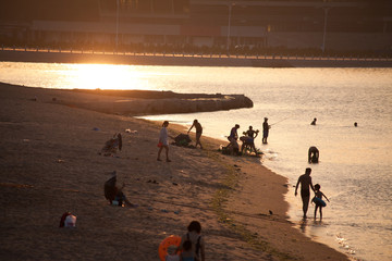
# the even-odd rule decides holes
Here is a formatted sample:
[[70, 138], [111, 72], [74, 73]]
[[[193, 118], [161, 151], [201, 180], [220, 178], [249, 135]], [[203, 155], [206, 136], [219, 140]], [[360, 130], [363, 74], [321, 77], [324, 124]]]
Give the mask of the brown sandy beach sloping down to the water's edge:
[[[0, 84], [1, 260], [159, 260], [160, 241], [193, 220], [207, 260], [348, 260], [287, 221], [287, 181], [259, 159], [223, 156], [222, 141], [203, 137], [204, 150], [170, 146], [172, 162], [159, 162], [161, 123], [53, 98], [113, 99]], [[172, 137], [184, 132], [169, 125]], [[122, 150], [99, 154], [115, 133]], [[114, 170], [137, 208], [108, 204], [103, 183]], [[59, 228], [65, 211], [75, 228]]]

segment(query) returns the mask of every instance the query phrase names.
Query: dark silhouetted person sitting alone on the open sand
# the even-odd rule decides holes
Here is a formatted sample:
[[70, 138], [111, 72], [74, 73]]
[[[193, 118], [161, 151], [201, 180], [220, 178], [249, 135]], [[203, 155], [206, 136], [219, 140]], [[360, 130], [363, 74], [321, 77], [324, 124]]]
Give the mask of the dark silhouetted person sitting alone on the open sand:
[[110, 204], [123, 207], [126, 203], [130, 207], [137, 207], [136, 204], [131, 203], [122, 191], [125, 187], [125, 183], [122, 185], [121, 188], [117, 186], [117, 172], [112, 172], [112, 177], [109, 178], [103, 186], [105, 190], [105, 198], [109, 200]]

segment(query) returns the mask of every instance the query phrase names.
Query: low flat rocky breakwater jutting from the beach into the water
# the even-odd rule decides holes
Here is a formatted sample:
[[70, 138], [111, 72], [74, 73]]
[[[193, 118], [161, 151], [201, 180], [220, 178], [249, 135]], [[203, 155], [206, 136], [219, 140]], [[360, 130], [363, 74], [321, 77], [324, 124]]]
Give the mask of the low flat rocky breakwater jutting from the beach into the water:
[[[193, 113], [253, 108], [244, 95], [176, 94], [149, 90], [73, 90], [111, 97], [107, 100], [63, 101], [69, 105], [121, 115]], [[115, 97], [115, 98], [114, 98]]]

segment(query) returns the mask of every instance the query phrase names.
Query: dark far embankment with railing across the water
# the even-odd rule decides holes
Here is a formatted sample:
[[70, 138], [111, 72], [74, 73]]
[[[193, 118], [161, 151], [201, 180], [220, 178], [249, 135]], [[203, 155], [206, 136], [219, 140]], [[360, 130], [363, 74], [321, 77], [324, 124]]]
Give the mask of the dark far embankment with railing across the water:
[[106, 63], [128, 65], [168, 65], [168, 66], [233, 66], [233, 67], [392, 67], [391, 59], [352, 59], [352, 58], [235, 58], [210, 55], [173, 54], [113, 54], [82, 53], [59, 51], [0, 50], [3, 62], [40, 63]]

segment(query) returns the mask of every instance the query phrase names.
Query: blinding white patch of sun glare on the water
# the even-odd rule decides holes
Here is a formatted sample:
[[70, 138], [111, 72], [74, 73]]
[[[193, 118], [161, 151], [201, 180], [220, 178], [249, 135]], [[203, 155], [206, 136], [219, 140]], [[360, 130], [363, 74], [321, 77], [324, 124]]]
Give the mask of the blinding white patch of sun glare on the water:
[[77, 89], [151, 89], [145, 73], [132, 65], [69, 64], [66, 71], [70, 87]]

